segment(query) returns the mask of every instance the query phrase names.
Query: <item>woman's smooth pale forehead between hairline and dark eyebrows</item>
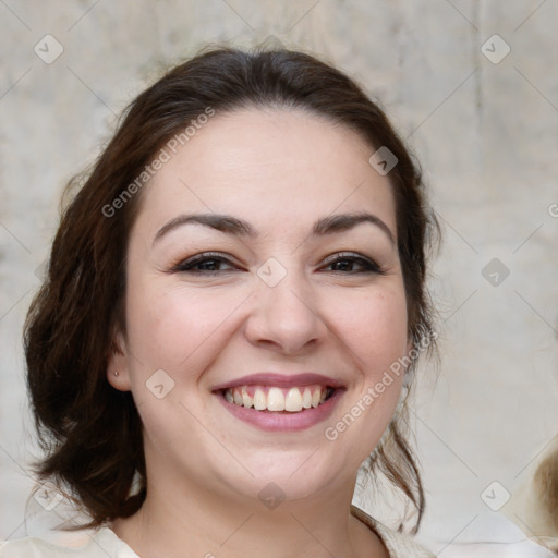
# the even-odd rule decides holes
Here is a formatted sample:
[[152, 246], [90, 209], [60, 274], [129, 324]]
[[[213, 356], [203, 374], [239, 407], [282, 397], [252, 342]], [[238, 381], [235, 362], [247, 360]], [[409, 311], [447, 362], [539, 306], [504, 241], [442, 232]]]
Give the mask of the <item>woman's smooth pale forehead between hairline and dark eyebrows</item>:
[[149, 181], [138, 221], [153, 228], [181, 211], [238, 215], [256, 229], [292, 227], [336, 210], [367, 209], [396, 233], [387, 177], [349, 128], [301, 110], [216, 114], [175, 148]]

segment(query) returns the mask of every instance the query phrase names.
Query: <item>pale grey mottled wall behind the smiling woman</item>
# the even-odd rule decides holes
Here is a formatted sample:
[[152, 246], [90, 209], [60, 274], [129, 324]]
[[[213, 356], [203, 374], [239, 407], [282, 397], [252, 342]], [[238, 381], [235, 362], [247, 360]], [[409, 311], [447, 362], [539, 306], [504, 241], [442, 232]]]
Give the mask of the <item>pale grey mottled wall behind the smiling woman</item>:
[[48, 523], [23, 522], [21, 331], [65, 181], [163, 64], [274, 36], [381, 99], [445, 226], [432, 281], [442, 361], [425, 367], [414, 415], [420, 538], [444, 557], [478, 556], [473, 542], [501, 544], [483, 556], [549, 556], [486, 502], [501, 505], [558, 434], [557, 22], [557, 0], [1, 0], [0, 538]]

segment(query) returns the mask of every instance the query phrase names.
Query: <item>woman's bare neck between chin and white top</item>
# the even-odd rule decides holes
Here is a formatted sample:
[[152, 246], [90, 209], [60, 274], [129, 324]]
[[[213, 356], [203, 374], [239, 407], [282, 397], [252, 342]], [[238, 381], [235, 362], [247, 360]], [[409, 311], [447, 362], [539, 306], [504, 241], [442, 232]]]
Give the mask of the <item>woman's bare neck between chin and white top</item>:
[[142, 558], [384, 558], [378, 536], [350, 514], [352, 489], [341, 496], [282, 501], [225, 500], [198, 486], [149, 485], [141, 510], [113, 523], [114, 533]]

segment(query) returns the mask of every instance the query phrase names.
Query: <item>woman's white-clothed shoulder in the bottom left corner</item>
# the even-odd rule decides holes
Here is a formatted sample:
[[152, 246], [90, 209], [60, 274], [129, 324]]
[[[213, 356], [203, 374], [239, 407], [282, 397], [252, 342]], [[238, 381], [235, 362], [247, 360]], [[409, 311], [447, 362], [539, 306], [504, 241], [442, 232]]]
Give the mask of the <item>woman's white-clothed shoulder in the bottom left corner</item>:
[[43, 538], [26, 537], [0, 543], [0, 558], [138, 558], [108, 527], [87, 535], [78, 547], [61, 546]]

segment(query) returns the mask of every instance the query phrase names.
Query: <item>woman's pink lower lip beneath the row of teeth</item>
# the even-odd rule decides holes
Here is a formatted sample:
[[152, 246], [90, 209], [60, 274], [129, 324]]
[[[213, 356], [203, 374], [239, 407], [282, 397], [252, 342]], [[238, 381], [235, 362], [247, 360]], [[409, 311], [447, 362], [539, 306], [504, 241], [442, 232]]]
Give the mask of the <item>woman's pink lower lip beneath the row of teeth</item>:
[[333, 395], [324, 403], [311, 409], [304, 409], [295, 413], [289, 411], [256, 411], [254, 408], [229, 403], [221, 392], [216, 393], [225, 409], [236, 418], [252, 424], [266, 432], [300, 432], [314, 426], [333, 412], [335, 407], [341, 399], [344, 390], [336, 389]]

